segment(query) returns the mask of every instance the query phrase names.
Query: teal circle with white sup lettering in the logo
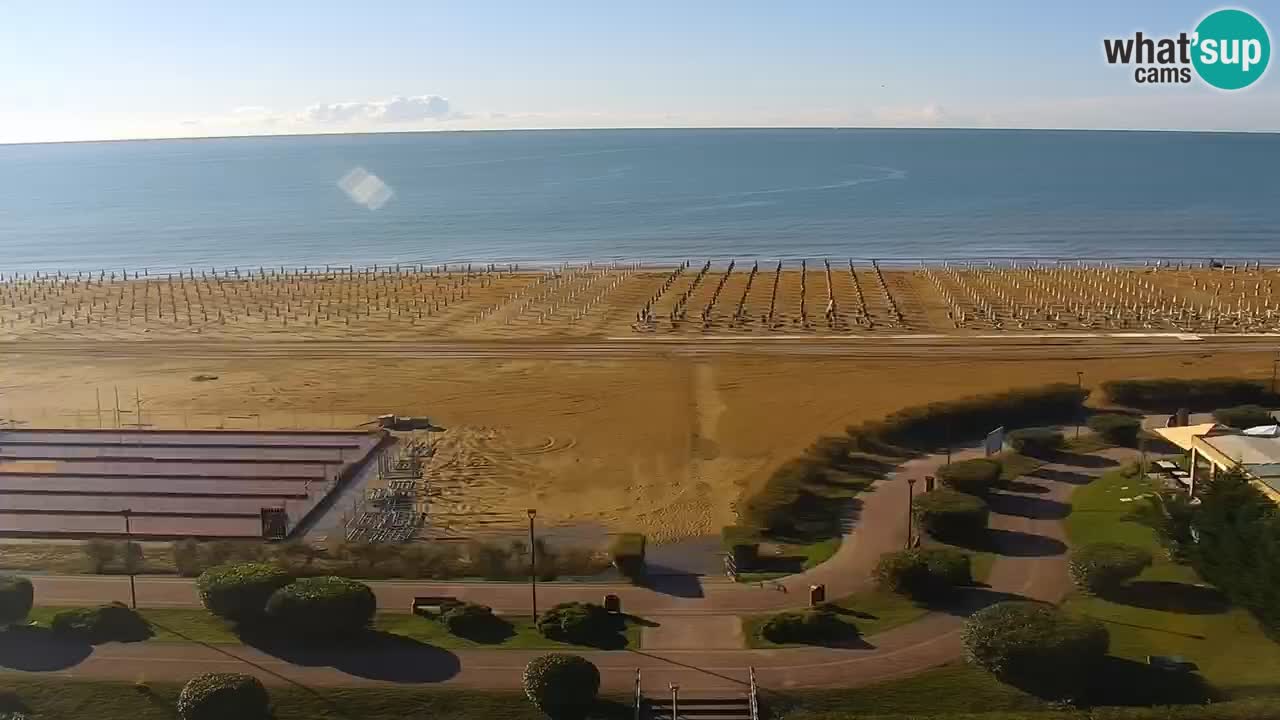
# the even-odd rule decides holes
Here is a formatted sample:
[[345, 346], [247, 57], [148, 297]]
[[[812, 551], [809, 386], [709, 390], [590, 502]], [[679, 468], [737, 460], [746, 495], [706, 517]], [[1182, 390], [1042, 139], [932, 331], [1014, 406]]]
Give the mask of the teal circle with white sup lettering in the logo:
[[1201, 79], [1219, 90], [1257, 82], [1271, 59], [1267, 28], [1244, 10], [1217, 10], [1196, 26], [1192, 64]]

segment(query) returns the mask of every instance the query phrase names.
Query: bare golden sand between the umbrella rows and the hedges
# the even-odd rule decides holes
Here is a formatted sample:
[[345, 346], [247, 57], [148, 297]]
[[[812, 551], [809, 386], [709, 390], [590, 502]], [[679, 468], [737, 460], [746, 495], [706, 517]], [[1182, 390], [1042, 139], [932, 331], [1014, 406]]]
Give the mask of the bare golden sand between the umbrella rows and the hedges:
[[[754, 292], [754, 288], [753, 288]], [[655, 539], [716, 533], [733, 502], [820, 434], [923, 402], [1046, 382], [1262, 375], [1270, 357], [1197, 352], [1106, 360], [892, 364], [837, 356], [618, 360], [4, 356], [0, 418], [23, 427], [353, 427], [428, 415], [442, 533], [593, 523]], [[216, 375], [215, 380], [195, 380]], [[137, 392], [136, 392], [137, 388]], [[99, 400], [100, 398], [100, 400]], [[104, 411], [96, 413], [101, 402]]]

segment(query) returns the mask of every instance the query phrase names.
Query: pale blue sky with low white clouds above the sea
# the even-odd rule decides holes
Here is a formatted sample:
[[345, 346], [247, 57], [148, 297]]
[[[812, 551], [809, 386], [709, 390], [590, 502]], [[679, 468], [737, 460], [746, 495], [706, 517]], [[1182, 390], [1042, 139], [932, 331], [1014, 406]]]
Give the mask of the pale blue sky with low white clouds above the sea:
[[[0, 0], [0, 142], [594, 127], [1280, 131], [1275, 68], [1222, 92], [1139, 85], [1103, 59], [1106, 37], [1189, 32], [1220, 6]], [[1280, 0], [1230, 6], [1280, 27]]]

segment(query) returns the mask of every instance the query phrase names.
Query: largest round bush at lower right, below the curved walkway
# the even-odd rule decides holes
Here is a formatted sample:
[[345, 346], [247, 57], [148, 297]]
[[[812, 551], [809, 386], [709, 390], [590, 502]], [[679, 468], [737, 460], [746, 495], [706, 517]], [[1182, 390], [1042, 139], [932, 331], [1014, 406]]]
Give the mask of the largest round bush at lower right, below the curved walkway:
[[1106, 656], [1107, 629], [1039, 602], [997, 602], [961, 630], [965, 659], [1012, 684], [1053, 694], [1083, 685]]

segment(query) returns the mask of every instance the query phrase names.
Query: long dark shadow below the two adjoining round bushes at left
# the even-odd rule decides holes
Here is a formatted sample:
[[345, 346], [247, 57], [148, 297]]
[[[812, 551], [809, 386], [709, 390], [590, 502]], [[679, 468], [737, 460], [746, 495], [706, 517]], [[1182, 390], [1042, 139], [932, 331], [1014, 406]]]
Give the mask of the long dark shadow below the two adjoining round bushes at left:
[[404, 635], [366, 630], [333, 646], [302, 644], [256, 630], [241, 635], [246, 644], [293, 665], [329, 666], [348, 675], [388, 683], [440, 683], [458, 674], [452, 652]]

